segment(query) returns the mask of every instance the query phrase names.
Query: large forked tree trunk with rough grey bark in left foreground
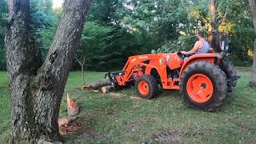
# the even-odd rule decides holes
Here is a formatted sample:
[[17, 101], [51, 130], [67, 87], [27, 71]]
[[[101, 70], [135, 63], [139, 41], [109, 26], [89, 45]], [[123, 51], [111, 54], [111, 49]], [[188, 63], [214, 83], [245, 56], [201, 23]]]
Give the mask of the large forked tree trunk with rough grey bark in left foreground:
[[[10, 80], [10, 143], [58, 138], [58, 112], [90, 0], [66, 0], [45, 62], [30, 36], [29, 0], [10, 0], [6, 61]], [[40, 68], [39, 68], [40, 67]]]

